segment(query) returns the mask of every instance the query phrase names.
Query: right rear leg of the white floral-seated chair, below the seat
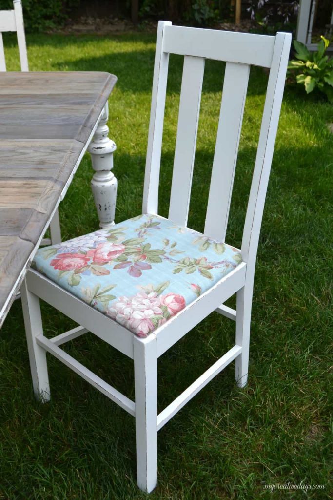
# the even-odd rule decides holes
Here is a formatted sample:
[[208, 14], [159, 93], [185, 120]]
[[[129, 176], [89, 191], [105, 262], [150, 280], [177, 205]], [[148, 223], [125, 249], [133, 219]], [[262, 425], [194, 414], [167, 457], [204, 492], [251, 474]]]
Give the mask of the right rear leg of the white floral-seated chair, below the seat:
[[242, 346], [242, 352], [235, 360], [239, 387], [245, 387], [248, 381], [251, 307], [252, 286], [245, 285], [237, 292], [236, 343]]

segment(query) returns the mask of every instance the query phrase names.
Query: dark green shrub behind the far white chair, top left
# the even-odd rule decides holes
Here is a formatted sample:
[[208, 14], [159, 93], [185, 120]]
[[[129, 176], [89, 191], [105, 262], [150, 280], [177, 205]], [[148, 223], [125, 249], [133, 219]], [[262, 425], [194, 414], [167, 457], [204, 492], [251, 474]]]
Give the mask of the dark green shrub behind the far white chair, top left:
[[[62, 26], [68, 18], [69, 9], [79, 2], [80, 0], [22, 0], [25, 31], [39, 32]], [[0, 0], [0, 9], [12, 9], [12, 0]]]

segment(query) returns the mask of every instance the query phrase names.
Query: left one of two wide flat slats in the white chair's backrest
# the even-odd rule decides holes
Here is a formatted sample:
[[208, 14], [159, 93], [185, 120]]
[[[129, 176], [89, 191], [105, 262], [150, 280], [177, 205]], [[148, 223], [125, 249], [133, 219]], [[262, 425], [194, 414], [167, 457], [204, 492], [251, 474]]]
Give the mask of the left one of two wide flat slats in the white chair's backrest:
[[185, 55], [171, 184], [169, 218], [186, 226], [197, 142], [205, 59]]

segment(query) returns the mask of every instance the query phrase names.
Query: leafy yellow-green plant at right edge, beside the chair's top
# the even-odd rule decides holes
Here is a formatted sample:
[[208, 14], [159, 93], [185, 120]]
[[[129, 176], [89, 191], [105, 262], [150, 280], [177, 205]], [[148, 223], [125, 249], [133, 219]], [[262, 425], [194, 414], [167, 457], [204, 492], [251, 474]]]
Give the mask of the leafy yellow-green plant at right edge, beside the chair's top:
[[297, 83], [304, 85], [307, 93], [316, 88], [333, 102], [333, 58], [325, 55], [330, 41], [324, 36], [321, 38], [317, 52], [310, 52], [304, 43], [294, 40], [297, 59], [289, 61], [288, 69], [296, 75]]

